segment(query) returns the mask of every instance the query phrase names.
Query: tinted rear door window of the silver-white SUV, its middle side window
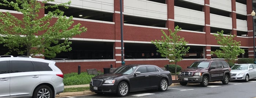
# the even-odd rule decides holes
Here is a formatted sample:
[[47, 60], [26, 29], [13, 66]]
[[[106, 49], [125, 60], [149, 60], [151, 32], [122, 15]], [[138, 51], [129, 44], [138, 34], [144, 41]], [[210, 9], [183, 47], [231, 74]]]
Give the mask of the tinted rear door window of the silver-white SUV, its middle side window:
[[34, 71], [31, 61], [11, 61], [10, 73]]

